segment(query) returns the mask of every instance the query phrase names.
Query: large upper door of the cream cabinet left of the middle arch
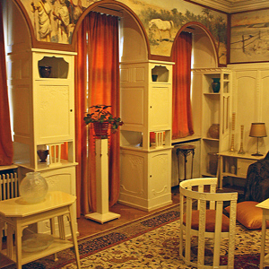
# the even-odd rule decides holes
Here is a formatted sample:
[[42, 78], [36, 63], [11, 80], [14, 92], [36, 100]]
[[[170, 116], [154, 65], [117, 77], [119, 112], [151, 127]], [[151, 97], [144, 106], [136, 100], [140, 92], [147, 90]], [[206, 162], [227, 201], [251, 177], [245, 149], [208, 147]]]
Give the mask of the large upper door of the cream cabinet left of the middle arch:
[[40, 82], [36, 91], [34, 126], [37, 143], [74, 139], [74, 96], [68, 81]]

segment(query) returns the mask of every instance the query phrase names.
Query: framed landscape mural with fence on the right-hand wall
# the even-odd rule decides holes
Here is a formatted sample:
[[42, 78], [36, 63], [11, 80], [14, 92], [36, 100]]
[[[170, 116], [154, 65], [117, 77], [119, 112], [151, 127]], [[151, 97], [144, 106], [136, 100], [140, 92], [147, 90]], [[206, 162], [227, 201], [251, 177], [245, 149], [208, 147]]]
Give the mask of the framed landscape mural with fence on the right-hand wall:
[[230, 62], [269, 60], [268, 9], [231, 15]]

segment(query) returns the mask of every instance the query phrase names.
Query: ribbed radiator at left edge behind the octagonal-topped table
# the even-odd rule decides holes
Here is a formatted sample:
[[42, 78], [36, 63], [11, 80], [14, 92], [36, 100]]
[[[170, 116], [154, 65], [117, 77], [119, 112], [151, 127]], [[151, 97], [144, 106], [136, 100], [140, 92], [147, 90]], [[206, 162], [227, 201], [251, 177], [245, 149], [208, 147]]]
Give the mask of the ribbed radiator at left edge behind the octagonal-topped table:
[[[15, 198], [19, 196], [19, 182], [16, 172], [0, 171], [0, 201]], [[4, 226], [3, 236], [6, 235]], [[1, 239], [1, 236], [0, 236]]]

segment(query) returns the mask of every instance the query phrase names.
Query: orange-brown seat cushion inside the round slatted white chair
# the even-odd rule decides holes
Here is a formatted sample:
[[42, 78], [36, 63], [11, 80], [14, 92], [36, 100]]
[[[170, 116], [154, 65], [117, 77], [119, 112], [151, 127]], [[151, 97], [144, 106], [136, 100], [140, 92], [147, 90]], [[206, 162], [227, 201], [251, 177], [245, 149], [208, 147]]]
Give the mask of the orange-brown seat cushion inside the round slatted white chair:
[[[213, 232], [215, 230], [215, 217], [216, 211], [212, 209], [206, 210], [205, 218], [205, 231]], [[186, 214], [183, 215], [183, 223], [186, 225]], [[229, 231], [230, 220], [227, 216], [222, 214], [222, 227], [221, 231]], [[192, 229], [198, 230], [199, 228], [199, 210], [192, 212]]]

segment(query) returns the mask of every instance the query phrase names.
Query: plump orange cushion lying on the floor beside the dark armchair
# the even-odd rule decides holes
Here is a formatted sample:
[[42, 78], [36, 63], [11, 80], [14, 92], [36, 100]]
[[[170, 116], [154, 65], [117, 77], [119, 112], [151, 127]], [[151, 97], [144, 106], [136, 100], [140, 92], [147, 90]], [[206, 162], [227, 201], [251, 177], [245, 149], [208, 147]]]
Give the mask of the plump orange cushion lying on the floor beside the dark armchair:
[[[263, 210], [256, 207], [256, 204], [259, 203], [244, 201], [237, 204], [237, 221], [249, 230], [262, 229]], [[230, 213], [230, 206], [225, 207], [225, 210]], [[269, 221], [267, 221], [266, 226], [269, 228]]]

